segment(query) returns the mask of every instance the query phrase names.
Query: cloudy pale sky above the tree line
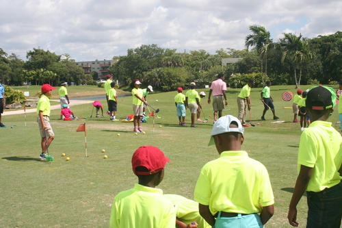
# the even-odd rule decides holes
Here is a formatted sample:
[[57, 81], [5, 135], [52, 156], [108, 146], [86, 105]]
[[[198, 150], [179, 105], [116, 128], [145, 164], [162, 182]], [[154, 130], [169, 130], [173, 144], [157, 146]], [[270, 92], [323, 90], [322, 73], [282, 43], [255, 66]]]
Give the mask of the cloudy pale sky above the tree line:
[[0, 48], [38, 48], [76, 61], [109, 60], [157, 44], [177, 52], [244, 49], [250, 25], [274, 41], [342, 31], [341, 0], [0, 0]]

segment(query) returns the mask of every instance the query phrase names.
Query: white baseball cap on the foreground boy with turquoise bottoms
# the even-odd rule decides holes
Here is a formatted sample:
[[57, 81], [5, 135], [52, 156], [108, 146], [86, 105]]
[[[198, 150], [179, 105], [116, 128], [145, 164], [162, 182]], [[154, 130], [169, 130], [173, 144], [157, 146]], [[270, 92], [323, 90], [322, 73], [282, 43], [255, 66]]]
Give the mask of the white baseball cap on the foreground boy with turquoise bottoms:
[[[237, 127], [229, 127], [229, 125], [231, 125], [232, 122], [236, 122]], [[242, 127], [241, 122], [235, 116], [232, 116], [232, 115], [222, 116], [213, 125], [213, 129], [211, 130], [210, 141], [209, 141], [208, 146], [215, 144], [213, 136], [216, 136], [218, 134], [223, 134], [226, 132], [239, 132], [241, 134], [244, 134], [244, 127]]]

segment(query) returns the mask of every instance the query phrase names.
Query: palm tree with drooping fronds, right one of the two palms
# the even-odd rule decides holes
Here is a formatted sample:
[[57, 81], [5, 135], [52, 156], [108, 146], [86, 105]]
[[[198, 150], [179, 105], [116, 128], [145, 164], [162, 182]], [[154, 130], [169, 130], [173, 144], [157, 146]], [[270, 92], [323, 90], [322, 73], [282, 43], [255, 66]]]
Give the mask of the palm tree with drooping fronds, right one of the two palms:
[[[282, 60], [289, 58], [293, 62], [295, 73], [295, 88], [300, 88], [300, 79], [302, 78], [302, 65], [309, 59], [313, 58], [313, 53], [308, 47], [308, 40], [302, 40], [302, 34], [295, 36], [295, 34], [284, 34], [284, 40], [281, 43], [284, 51], [282, 52]], [[300, 77], [297, 80], [297, 66], [300, 66]]]

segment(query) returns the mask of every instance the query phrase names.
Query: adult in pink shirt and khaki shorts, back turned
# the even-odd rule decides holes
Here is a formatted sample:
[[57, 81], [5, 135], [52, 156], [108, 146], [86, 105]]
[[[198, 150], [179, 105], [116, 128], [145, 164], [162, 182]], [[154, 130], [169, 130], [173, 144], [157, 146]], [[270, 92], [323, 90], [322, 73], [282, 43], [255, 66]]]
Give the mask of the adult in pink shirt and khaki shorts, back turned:
[[226, 90], [227, 85], [224, 82], [224, 74], [219, 73], [218, 79], [211, 83], [211, 87], [209, 90], [209, 97], [208, 103], [211, 103], [211, 93], [213, 93], [213, 116], [214, 116], [214, 123], [218, 118], [222, 116], [222, 110], [224, 109], [224, 105], [228, 105], [228, 101], [226, 98]]

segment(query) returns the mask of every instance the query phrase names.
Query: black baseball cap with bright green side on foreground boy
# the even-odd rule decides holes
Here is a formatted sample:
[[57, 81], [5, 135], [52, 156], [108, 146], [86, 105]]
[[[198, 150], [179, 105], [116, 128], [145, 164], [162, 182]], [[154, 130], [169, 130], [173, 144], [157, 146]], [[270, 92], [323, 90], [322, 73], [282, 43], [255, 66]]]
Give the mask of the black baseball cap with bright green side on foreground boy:
[[311, 110], [328, 110], [336, 105], [336, 93], [328, 86], [313, 86], [306, 94], [305, 105]]

